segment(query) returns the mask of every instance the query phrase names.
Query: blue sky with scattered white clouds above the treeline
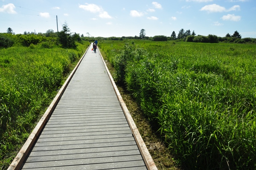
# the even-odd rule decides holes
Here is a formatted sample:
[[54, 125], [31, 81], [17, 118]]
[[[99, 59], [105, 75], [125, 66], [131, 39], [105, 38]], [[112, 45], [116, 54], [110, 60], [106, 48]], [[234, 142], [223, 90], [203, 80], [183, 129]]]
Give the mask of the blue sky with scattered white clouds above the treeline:
[[94, 37], [196, 35], [256, 38], [256, 0], [0, 0], [0, 32], [57, 31], [67, 22], [71, 32]]

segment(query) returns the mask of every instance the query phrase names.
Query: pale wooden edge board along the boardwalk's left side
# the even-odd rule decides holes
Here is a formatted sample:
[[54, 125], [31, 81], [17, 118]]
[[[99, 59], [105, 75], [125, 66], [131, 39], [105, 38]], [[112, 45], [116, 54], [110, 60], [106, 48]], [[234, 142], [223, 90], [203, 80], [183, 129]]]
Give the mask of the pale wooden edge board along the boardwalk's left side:
[[[89, 47], [90, 46], [88, 46], [88, 48], [84, 52], [84, 55], [88, 51]], [[82, 59], [84, 58], [84, 55], [81, 57], [81, 59], [79, 60], [79, 62], [76, 65], [76, 67], [70, 73], [70, 76], [67, 78], [67, 80], [65, 81], [65, 83], [63, 84], [61, 89], [59, 90], [58, 94], [55, 96], [55, 98], [53, 99], [52, 103], [50, 104], [50, 106], [48, 107], [48, 109], [46, 110], [46, 112], [44, 113], [44, 115], [42, 116], [42, 118], [40, 119], [38, 124], [36, 125], [35, 129], [29, 135], [29, 138], [26, 140], [25, 144], [20, 149], [20, 152], [14, 158], [14, 160], [12, 161], [12, 164], [10, 164], [10, 166], [9, 166], [9, 168], [7, 170], [19, 170], [20, 169], [20, 167], [23, 164], [23, 161], [25, 160], [26, 156], [29, 153], [29, 150], [31, 149], [31, 147], [33, 146], [34, 142], [36, 141], [39, 133], [43, 129], [44, 124], [46, 124], [46, 122], [49, 120], [50, 115], [52, 114], [53, 110], [55, 109], [56, 105], [58, 104], [58, 101], [60, 100], [61, 96], [63, 95], [63, 93], [65, 91], [65, 89], [67, 88], [67, 85], [69, 84], [71, 78], [75, 74], [76, 69], [78, 68], [78, 66], [80, 65]]]

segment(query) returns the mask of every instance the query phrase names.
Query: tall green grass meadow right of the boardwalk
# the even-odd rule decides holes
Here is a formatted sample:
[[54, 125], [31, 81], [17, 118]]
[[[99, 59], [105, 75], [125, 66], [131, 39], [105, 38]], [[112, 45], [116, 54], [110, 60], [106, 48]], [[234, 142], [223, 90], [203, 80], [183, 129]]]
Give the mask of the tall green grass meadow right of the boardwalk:
[[256, 44], [105, 40], [99, 47], [185, 169], [256, 168]]

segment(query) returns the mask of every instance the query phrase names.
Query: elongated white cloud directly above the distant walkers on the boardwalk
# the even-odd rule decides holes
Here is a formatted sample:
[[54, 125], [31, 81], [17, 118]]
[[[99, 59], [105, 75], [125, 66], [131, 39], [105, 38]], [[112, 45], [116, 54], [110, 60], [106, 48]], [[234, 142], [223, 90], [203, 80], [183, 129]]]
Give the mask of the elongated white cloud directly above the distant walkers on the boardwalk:
[[79, 8], [84, 9], [85, 11], [89, 11], [92, 13], [99, 13], [99, 17], [101, 18], [112, 18], [108, 12], [105, 12], [102, 7], [97, 6], [93, 3], [85, 3], [85, 5], [79, 5]]

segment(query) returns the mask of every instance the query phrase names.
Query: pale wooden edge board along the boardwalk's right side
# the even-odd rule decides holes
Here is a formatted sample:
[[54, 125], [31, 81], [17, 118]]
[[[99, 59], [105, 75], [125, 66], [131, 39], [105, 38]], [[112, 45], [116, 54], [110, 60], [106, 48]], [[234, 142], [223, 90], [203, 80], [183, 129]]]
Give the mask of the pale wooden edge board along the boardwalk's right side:
[[126, 117], [126, 119], [128, 121], [128, 124], [129, 124], [129, 126], [131, 128], [132, 134], [133, 134], [133, 136], [135, 138], [135, 141], [136, 141], [136, 143], [137, 143], [137, 145], [139, 147], [140, 153], [141, 153], [141, 155], [143, 157], [143, 160], [144, 160], [145, 164], [146, 164], [148, 170], [157, 170], [157, 167], [156, 167], [156, 165], [155, 165], [155, 163], [154, 163], [150, 153], [148, 152], [148, 148], [146, 147], [146, 145], [145, 145], [145, 143], [143, 141], [143, 138], [141, 137], [140, 132], [137, 129], [136, 124], [134, 123], [133, 118], [131, 117], [131, 114], [130, 114], [129, 110], [126, 107], [125, 102], [123, 101], [122, 96], [119, 93], [119, 90], [117, 89], [117, 86], [116, 86], [116, 84], [115, 84], [115, 82], [114, 82], [114, 80], [113, 80], [113, 78], [112, 78], [112, 76], [111, 76], [111, 74], [110, 74], [110, 72], [108, 70], [108, 67], [107, 67], [107, 65], [106, 65], [106, 63], [105, 63], [105, 61], [104, 61], [100, 51], [99, 51], [99, 54], [100, 54], [100, 56], [102, 58], [102, 62], [104, 63], [104, 66], [105, 66], [105, 68], [107, 70], [108, 76], [109, 76], [109, 78], [111, 80], [111, 84], [112, 84], [112, 86], [113, 86], [113, 88], [114, 88], [114, 90], [116, 92], [116, 96], [117, 96], [118, 101], [119, 101], [119, 103], [120, 103], [120, 105], [122, 107], [122, 110], [125, 113], [125, 117]]

